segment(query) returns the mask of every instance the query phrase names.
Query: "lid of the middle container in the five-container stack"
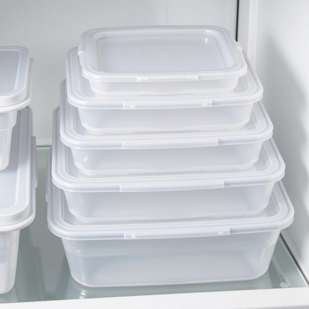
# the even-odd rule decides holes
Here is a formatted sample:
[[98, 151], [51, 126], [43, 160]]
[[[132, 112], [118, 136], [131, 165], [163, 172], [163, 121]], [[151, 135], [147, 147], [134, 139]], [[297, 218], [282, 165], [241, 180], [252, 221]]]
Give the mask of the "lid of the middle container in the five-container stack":
[[60, 138], [78, 149], [146, 149], [233, 145], [263, 142], [273, 135], [273, 124], [261, 102], [253, 107], [249, 122], [240, 129], [128, 132], [94, 134], [80, 123], [78, 109], [67, 102], [64, 82], [60, 86]]

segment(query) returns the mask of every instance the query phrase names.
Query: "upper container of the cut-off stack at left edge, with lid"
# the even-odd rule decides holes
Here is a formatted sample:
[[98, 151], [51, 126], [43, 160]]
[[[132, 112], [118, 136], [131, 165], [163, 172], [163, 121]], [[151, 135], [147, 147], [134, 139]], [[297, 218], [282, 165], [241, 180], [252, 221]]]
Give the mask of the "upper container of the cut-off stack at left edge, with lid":
[[31, 100], [32, 63], [28, 49], [0, 47], [0, 171], [9, 164], [17, 111]]

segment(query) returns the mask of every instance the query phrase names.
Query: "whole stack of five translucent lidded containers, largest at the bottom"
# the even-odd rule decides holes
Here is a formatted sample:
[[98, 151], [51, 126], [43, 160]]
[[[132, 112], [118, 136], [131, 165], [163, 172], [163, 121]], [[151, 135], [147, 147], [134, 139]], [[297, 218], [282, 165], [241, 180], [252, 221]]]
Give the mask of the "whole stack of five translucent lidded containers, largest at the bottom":
[[217, 27], [95, 29], [66, 54], [46, 198], [76, 281], [248, 280], [294, 210], [263, 88]]

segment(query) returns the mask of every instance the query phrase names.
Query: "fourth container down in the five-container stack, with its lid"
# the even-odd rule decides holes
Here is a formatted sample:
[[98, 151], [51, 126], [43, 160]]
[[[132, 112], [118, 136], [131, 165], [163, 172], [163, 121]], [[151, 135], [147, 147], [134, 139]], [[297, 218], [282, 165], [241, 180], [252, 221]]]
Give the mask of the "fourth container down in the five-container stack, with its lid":
[[[53, 182], [64, 190], [68, 209], [80, 220], [163, 220], [201, 218], [206, 214], [256, 214], [267, 206], [274, 183], [284, 175], [285, 165], [272, 139], [261, 143], [261, 153], [257, 155], [256, 163], [243, 169], [194, 168], [199, 161], [193, 156], [192, 160], [188, 160], [192, 165], [187, 172], [166, 172], [167, 169], [160, 169], [156, 165], [151, 170], [147, 167], [148, 173], [145, 170], [136, 173], [128, 169], [127, 173], [85, 174], [74, 164], [73, 149], [60, 141], [58, 114], [59, 109], [55, 109]], [[175, 157], [174, 160], [177, 160], [179, 169], [187, 164], [187, 149], [176, 149], [179, 158]], [[91, 151], [88, 150], [89, 157], [86, 160], [92, 159]], [[114, 154], [115, 150], [107, 151], [111, 154], [110, 158], [101, 155], [102, 164], [123, 164]], [[147, 158], [151, 150], [140, 151], [141, 156], [132, 155], [132, 162], [139, 163], [143, 156]], [[170, 162], [173, 160], [166, 159]]]

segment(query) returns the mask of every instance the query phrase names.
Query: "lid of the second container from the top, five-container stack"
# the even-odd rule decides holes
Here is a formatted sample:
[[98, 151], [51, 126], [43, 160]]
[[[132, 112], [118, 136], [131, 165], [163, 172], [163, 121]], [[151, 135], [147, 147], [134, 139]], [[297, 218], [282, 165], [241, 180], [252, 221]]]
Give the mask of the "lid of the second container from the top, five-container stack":
[[263, 87], [250, 61], [248, 72], [239, 79], [237, 87], [228, 93], [190, 95], [98, 96], [91, 90], [89, 80], [82, 76], [77, 48], [66, 54], [66, 81], [68, 102], [76, 107], [104, 109], [192, 108], [255, 103], [263, 97]]

